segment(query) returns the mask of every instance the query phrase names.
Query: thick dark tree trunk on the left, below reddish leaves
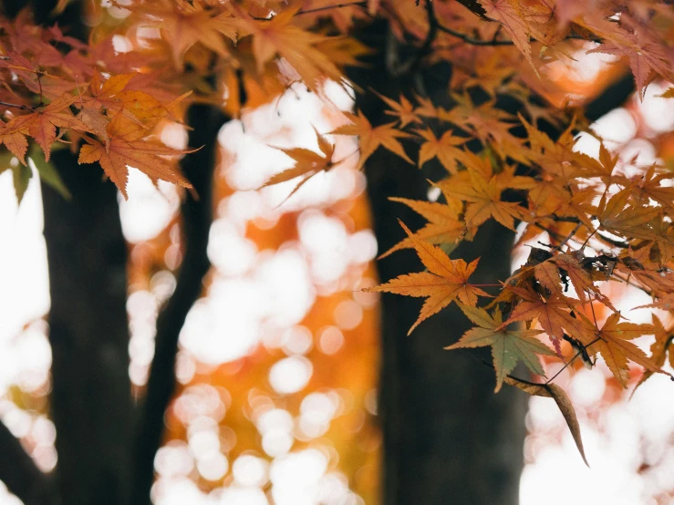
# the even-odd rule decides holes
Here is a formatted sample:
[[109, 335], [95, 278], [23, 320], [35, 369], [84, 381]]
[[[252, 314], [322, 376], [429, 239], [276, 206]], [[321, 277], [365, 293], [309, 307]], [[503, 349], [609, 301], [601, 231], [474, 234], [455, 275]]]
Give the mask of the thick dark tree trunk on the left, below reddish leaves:
[[53, 163], [72, 193], [66, 201], [43, 185], [57, 488], [64, 505], [124, 505], [132, 405], [117, 190], [67, 150]]

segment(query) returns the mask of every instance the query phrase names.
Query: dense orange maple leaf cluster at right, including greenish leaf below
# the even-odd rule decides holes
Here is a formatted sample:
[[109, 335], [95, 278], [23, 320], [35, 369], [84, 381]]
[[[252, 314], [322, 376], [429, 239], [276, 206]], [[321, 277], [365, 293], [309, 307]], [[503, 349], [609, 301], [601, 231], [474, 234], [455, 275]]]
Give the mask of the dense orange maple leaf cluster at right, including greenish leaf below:
[[[443, 111], [436, 117], [440, 115], [448, 117]], [[518, 360], [544, 375], [534, 355], [553, 353], [532, 338], [542, 332], [549, 335], [558, 356], [564, 339], [582, 348], [589, 359], [600, 354], [623, 386], [628, 361], [661, 372], [667, 352], [663, 339], [671, 328], [663, 328], [656, 316], [657, 326], [620, 323], [620, 313], [603, 290], [609, 283], [631, 283], [653, 296], [656, 301], [649, 306], [669, 308], [674, 291], [674, 229], [669, 219], [674, 188], [667, 181], [674, 174], [653, 165], [627, 176], [617, 170], [617, 156], [603, 145], [595, 160], [573, 150], [572, 129], [554, 141], [521, 121], [528, 138], [520, 142], [518, 166], [530, 169], [531, 175], [515, 175], [515, 165], [507, 161], [495, 164], [493, 158], [462, 152], [462, 169], [452, 169], [450, 177], [436, 183], [443, 201], [398, 199], [429, 223], [415, 233], [406, 229], [408, 238], [386, 254], [414, 247], [428, 272], [404, 275], [375, 289], [427, 297], [415, 326], [458, 299], [477, 327], [449, 348], [491, 345], [497, 390]], [[503, 146], [499, 148], [493, 145], [503, 155]], [[549, 243], [532, 248], [498, 296], [477, 308], [477, 296], [487, 295], [468, 282], [477, 265], [450, 260], [444, 251], [472, 240], [489, 219], [513, 232], [515, 222], [522, 222], [520, 242], [535, 241], [544, 233]], [[444, 251], [433, 244], [444, 245]], [[593, 317], [594, 302], [613, 312], [601, 328]], [[540, 331], [508, 329], [515, 322], [529, 327], [534, 321]], [[656, 327], [658, 349], [648, 357], [630, 341], [653, 335]]]

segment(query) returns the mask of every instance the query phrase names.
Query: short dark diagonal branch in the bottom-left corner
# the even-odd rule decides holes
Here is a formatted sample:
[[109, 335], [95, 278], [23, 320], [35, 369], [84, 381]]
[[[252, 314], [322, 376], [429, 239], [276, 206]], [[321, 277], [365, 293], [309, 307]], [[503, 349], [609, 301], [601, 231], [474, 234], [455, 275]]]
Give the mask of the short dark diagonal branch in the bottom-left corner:
[[12, 435], [4, 423], [0, 422], [0, 480], [26, 505], [47, 505], [52, 503], [50, 483], [33, 459]]

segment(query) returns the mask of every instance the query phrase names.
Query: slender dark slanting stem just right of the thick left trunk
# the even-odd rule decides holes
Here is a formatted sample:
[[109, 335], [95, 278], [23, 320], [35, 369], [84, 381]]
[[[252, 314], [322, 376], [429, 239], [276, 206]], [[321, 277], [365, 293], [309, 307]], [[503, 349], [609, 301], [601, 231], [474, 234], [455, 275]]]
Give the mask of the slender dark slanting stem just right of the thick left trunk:
[[136, 430], [136, 471], [131, 490], [131, 503], [135, 505], [150, 503], [154, 457], [161, 444], [164, 412], [175, 388], [178, 338], [187, 313], [202, 294], [203, 277], [211, 266], [206, 246], [213, 221], [213, 169], [218, 132], [227, 119], [219, 109], [207, 105], [193, 105], [188, 112], [187, 123], [193, 128], [190, 145], [203, 146], [203, 149], [185, 157], [181, 167], [199, 194], [199, 200], [188, 196], [182, 203], [182, 240], [185, 245], [181, 269], [175, 292], [157, 318], [154, 358]]

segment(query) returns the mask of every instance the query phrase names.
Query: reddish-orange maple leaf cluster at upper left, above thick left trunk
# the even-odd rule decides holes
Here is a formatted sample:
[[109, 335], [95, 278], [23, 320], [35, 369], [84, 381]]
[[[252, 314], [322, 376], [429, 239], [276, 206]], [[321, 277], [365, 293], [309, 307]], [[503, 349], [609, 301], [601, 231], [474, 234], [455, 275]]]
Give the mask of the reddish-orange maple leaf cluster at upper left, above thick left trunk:
[[[109, 51], [110, 40], [89, 46], [63, 35], [57, 26], [31, 25], [27, 14], [11, 22], [2, 20], [0, 27], [4, 49], [0, 73], [5, 83], [0, 88], [0, 105], [5, 108], [0, 142], [20, 163], [3, 167], [13, 168], [15, 180], [31, 173], [26, 168], [30, 139], [43, 153], [41, 157], [31, 149], [31, 158], [48, 174], [56, 173], [46, 162], [59, 142], [78, 149], [80, 163], [99, 162], [125, 197], [128, 165], [152, 180], [190, 187], [166, 160], [182, 151], [155, 139], [163, 119], [176, 119], [184, 96], [153, 89], [151, 76], [114, 73], [119, 63]], [[63, 190], [56, 177], [53, 180]], [[25, 188], [18, 183], [15, 187], [20, 197]]]

